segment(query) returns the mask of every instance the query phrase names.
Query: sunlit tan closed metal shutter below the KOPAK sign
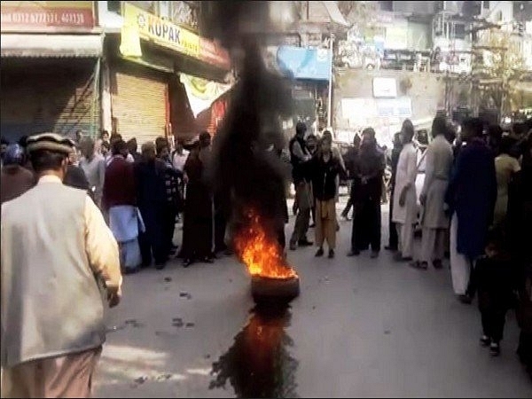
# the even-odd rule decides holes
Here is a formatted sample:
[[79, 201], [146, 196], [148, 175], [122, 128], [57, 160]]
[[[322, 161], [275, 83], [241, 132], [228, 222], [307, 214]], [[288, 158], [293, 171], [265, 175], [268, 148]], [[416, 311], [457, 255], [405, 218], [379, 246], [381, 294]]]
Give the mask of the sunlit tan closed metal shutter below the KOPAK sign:
[[112, 117], [116, 131], [137, 144], [165, 137], [168, 121], [168, 79], [144, 66], [112, 67]]

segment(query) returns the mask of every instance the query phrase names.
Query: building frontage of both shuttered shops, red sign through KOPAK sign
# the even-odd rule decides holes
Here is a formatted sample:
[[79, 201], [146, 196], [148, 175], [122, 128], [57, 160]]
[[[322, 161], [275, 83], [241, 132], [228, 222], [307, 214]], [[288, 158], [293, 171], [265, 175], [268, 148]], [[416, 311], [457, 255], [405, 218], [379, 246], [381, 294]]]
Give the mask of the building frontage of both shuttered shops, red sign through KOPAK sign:
[[231, 60], [194, 2], [2, 2], [2, 136], [215, 133]]

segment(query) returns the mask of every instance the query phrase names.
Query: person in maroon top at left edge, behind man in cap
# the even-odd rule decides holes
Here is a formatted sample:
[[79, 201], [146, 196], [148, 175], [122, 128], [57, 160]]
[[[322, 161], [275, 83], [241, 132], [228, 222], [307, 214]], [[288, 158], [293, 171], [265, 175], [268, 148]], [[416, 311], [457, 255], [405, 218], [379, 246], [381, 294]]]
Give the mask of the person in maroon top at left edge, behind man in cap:
[[34, 174], [22, 166], [25, 162], [24, 149], [20, 145], [7, 146], [0, 180], [1, 203], [19, 197], [35, 185]]

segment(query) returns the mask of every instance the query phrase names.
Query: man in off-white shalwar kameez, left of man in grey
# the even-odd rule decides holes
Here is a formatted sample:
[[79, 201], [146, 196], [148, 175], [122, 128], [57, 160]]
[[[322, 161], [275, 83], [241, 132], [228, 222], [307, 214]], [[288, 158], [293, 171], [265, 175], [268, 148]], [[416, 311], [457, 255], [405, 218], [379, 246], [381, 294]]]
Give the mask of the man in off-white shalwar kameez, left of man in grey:
[[418, 176], [418, 152], [412, 143], [414, 127], [410, 120], [403, 122], [401, 130], [403, 150], [397, 162], [394, 211], [392, 221], [399, 236], [399, 251], [396, 261], [411, 261], [414, 246], [414, 226], [418, 215], [416, 176]]

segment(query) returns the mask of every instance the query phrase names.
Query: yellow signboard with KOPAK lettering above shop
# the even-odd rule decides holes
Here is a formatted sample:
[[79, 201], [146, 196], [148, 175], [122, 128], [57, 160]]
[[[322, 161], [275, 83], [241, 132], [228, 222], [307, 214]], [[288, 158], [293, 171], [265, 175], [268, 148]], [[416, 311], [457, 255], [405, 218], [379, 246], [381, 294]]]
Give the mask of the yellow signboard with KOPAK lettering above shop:
[[192, 57], [200, 57], [199, 35], [129, 3], [124, 3], [123, 7], [124, 26], [136, 27], [141, 38]]

